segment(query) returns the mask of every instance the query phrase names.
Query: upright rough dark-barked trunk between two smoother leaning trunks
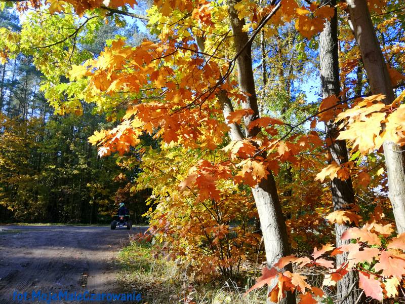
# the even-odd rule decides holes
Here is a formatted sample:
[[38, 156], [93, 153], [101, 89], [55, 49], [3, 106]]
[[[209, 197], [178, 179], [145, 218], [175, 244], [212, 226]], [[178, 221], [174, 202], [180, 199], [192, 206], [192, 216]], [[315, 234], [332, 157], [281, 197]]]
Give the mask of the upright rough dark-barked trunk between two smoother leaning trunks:
[[[335, 7], [336, 0], [322, 0], [321, 4], [329, 4], [331, 7]], [[323, 28], [319, 36], [319, 63], [323, 98], [333, 94], [338, 96], [340, 93], [337, 30], [338, 23], [335, 8], [335, 15], [331, 20], [325, 22], [325, 28]], [[331, 160], [338, 165], [347, 162], [346, 141], [336, 140], [339, 133], [338, 125], [334, 121], [330, 121], [326, 124], [326, 129], [330, 140], [328, 150]], [[331, 181], [331, 191], [334, 210], [344, 209], [346, 205], [354, 203], [354, 192], [350, 177], [346, 180], [334, 178]], [[349, 225], [335, 224], [336, 247], [350, 243], [349, 240], [341, 240], [342, 234], [347, 229], [349, 229]], [[347, 253], [344, 253], [336, 256], [337, 267], [347, 261], [347, 255]], [[337, 300], [342, 304], [353, 304], [359, 295], [358, 274], [354, 271], [349, 272], [337, 284]]]

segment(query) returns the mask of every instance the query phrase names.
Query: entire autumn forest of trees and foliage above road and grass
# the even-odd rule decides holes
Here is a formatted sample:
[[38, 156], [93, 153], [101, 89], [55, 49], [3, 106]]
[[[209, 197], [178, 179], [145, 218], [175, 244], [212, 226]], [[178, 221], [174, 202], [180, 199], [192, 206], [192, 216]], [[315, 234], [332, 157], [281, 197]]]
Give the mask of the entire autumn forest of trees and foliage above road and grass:
[[0, 9], [1, 222], [125, 202], [153, 256], [240, 301], [405, 302], [403, 1]]

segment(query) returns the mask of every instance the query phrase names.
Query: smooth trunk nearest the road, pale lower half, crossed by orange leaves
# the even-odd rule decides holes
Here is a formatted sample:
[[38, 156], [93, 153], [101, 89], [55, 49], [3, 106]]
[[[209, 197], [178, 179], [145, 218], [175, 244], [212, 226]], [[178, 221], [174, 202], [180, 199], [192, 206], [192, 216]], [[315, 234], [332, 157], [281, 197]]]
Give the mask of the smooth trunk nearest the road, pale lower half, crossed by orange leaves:
[[[240, 56], [236, 59], [239, 89], [241, 92], [248, 93], [246, 101], [242, 102], [242, 106], [244, 108], [251, 108], [254, 112], [253, 115], [245, 117], [246, 136], [252, 138], [256, 136], [260, 130], [257, 127], [249, 130], [248, 126], [251, 122], [259, 118], [259, 109], [253, 77], [251, 43], [248, 42], [248, 34], [242, 30], [242, 27], [245, 25], [245, 20], [239, 20], [237, 12], [234, 9], [234, 5], [237, 2], [238, 0], [228, 0], [228, 12], [233, 32], [235, 51], [236, 53], [241, 52]], [[262, 227], [267, 265], [273, 267], [274, 263], [277, 262], [280, 257], [290, 254], [286, 223], [282, 216], [273, 174], [270, 172], [266, 179], [262, 179], [258, 185], [252, 188], [252, 193]], [[289, 270], [292, 270], [291, 267]], [[273, 286], [269, 286], [269, 289], [272, 287]], [[295, 303], [294, 294], [288, 293], [280, 303]]]

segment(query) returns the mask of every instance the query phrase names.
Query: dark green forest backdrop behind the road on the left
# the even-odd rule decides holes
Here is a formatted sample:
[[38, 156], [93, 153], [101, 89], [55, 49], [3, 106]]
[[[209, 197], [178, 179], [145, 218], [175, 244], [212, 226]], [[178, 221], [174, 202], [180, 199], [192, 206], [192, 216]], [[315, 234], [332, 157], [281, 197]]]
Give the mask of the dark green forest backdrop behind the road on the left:
[[[17, 30], [19, 18], [0, 12], [0, 26]], [[96, 56], [116, 30], [103, 25], [92, 45], [80, 47]], [[0, 222], [108, 222], [120, 202], [133, 223], [145, 222], [150, 193], [134, 192], [138, 167], [101, 159], [88, 142], [95, 130], [109, 127], [106, 118], [85, 103], [83, 115], [55, 115], [41, 80], [29, 56], [0, 65]]]

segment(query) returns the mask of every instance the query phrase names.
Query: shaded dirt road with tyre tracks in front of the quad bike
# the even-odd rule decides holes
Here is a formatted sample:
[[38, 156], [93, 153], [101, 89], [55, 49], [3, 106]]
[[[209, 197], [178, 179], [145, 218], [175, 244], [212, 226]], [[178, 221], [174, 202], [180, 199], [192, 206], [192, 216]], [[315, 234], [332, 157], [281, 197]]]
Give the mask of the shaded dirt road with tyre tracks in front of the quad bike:
[[[37, 302], [31, 298], [32, 291], [37, 290], [132, 292], [121, 290], [115, 283], [118, 267], [114, 258], [128, 243], [129, 234], [145, 230], [146, 227], [128, 231], [110, 230], [107, 226], [0, 226], [0, 303]], [[28, 300], [23, 296], [18, 300], [16, 292], [27, 292]], [[51, 301], [65, 302], [69, 301]]]

